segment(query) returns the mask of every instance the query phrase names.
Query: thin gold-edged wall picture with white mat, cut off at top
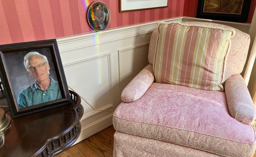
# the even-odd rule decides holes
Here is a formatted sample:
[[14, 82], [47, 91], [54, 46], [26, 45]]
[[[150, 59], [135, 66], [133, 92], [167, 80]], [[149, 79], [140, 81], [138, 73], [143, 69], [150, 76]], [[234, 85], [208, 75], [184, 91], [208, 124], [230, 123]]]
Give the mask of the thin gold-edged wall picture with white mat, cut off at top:
[[168, 7], [168, 0], [119, 0], [119, 12]]

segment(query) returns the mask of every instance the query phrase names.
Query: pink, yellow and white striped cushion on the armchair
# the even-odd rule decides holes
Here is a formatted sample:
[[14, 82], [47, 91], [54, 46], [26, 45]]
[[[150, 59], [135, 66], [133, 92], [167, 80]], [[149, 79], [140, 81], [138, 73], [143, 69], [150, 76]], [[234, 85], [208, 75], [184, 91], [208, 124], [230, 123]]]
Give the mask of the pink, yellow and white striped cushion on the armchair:
[[221, 83], [233, 29], [160, 22], [158, 30], [153, 64], [156, 82], [224, 90]]

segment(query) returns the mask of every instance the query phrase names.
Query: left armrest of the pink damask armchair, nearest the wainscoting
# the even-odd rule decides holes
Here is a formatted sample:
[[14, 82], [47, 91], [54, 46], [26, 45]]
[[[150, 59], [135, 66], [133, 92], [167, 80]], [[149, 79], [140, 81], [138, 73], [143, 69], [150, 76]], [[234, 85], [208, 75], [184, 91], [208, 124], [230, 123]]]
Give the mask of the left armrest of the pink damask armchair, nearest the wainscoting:
[[132, 81], [124, 88], [121, 100], [130, 103], [138, 100], [145, 94], [154, 81], [153, 65], [148, 64], [136, 75]]

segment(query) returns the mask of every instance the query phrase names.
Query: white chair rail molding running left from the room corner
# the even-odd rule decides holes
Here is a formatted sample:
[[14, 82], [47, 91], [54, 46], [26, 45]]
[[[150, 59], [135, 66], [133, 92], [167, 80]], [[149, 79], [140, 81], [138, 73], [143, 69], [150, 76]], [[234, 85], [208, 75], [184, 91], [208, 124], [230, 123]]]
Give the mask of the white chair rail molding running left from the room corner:
[[[165, 22], [182, 21], [183, 17], [160, 20]], [[86, 48], [103, 43], [115, 42], [117, 40], [127, 39], [138, 35], [152, 33], [159, 21], [135, 24], [130, 26], [107, 29], [102, 32], [90, 32], [70, 37], [61, 37], [57, 39], [59, 51], [67, 52], [75, 49]]]

